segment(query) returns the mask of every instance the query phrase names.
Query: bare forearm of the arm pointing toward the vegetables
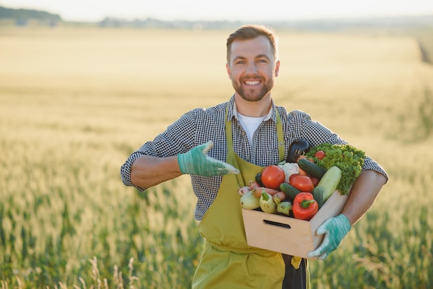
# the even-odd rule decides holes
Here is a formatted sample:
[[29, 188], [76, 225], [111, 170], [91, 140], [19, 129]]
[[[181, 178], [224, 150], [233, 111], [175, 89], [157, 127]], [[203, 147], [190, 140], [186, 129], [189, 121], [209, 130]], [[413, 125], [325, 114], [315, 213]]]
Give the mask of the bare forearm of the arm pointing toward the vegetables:
[[131, 167], [131, 183], [138, 187], [153, 187], [181, 176], [177, 156], [157, 158], [142, 156]]

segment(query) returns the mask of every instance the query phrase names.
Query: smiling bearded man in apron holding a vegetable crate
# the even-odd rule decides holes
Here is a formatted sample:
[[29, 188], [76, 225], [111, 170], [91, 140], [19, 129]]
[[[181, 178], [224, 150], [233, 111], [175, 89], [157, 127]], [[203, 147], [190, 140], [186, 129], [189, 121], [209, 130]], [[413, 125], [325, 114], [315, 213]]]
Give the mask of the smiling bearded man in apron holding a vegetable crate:
[[[293, 140], [304, 138], [312, 146], [346, 143], [307, 113], [274, 104], [270, 91], [279, 66], [272, 31], [239, 28], [227, 40], [226, 68], [235, 91], [230, 100], [185, 113], [122, 165], [125, 185], [141, 190], [191, 175], [198, 199], [194, 216], [205, 238], [193, 288], [308, 287], [306, 260], [248, 247], [237, 194], [263, 167], [284, 160]], [[342, 214], [318, 229], [325, 238], [310, 257], [326, 259], [386, 181], [382, 167], [367, 158]]]

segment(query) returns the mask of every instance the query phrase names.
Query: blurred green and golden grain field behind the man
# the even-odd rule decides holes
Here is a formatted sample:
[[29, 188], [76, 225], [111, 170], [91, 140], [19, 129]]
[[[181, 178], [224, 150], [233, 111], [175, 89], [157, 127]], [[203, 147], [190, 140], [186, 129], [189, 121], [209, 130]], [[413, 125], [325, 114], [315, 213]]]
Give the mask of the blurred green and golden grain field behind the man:
[[[232, 95], [231, 31], [0, 28], [1, 288], [189, 288], [202, 240], [183, 176], [120, 166], [188, 109]], [[273, 98], [389, 174], [313, 288], [432, 288], [433, 66], [403, 36], [279, 33]]]

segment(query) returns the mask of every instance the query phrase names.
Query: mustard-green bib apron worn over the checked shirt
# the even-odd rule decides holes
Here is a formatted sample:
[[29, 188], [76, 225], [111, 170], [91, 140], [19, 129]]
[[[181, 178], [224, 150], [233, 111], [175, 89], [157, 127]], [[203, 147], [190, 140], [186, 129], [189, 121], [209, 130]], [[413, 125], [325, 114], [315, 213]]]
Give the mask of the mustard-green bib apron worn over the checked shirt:
[[[282, 288], [284, 260], [281, 253], [251, 248], [246, 242], [238, 187], [255, 180], [263, 169], [234, 153], [231, 122], [225, 122], [227, 162], [241, 171], [223, 176], [218, 194], [199, 224], [205, 251], [196, 268], [192, 288]], [[277, 114], [279, 159], [284, 158], [282, 123]]]

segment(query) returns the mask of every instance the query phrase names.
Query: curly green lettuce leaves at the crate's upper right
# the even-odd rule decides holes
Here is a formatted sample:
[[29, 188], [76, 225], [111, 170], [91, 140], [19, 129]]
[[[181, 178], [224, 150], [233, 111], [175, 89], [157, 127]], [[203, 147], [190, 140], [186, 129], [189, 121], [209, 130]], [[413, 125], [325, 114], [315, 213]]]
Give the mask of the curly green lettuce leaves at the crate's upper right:
[[[322, 160], [315, 158], [314, 154], [317, 151], [324, 151], [325, 156]], [[332, 166], [341, 169], [342, 176], [337, 189], [340, 194], [344, 195], [349, 194], [351, 185], [361, 174], [366, 158], [364, 151], [352, 145], [331, 145], [328, 143], [312, 147], [306, 156], [313, 158], [315, 164], [324, 169], [329, 169]]]

